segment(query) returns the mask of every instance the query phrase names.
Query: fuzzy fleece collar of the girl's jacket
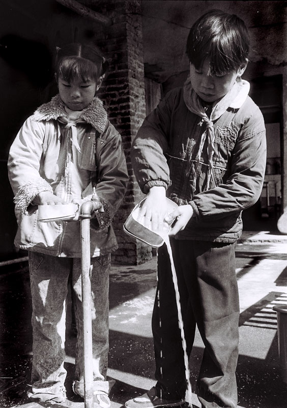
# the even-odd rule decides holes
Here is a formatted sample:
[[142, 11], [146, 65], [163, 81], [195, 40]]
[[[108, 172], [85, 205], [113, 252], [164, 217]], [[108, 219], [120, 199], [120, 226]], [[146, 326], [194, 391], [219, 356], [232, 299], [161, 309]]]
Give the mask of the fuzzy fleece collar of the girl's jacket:
[[[65, 106], [60, 95], [54, 96], [50, 102], [41, 105], [34, 113], [34, 120], [58, 119], [61, 116], [67, 117]], [[90, 123], [95, 129], [103, 133], [107, 121], [107, 113], [103, 107], [102, 101], [95, 96], [91, 104], [82, 110], [79, 119]]]

